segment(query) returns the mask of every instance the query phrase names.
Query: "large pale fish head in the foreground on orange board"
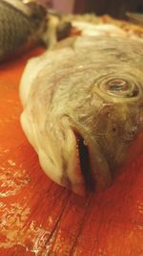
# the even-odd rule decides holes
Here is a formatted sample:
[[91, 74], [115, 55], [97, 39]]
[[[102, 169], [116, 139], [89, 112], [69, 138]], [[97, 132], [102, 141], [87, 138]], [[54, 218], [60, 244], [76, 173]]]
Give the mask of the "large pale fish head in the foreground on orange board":
[[112, 184], [143, 151], [143, 43], [75, 36], [32, 58], [22, 127], [52, 180], [78, 195]]

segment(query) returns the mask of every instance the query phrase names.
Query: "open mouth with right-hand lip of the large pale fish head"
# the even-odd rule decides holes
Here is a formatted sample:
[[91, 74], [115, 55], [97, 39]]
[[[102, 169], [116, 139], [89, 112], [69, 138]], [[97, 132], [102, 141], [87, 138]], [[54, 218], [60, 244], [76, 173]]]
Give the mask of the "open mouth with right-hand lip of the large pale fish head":
[[84, 180], [84, 190], [100, 191], [112, 184], [112, 173], [98, 145], [74, 131], [76, 140], [76, 162]]

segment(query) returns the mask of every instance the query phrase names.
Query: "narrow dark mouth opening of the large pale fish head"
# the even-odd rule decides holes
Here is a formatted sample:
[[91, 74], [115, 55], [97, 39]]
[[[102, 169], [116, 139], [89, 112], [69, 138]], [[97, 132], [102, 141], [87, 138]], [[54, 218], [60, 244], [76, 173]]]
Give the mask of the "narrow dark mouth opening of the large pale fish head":
[[80, 168], [82, 174], [84, 175], [85, 185], [88, 190], [94, 191], [95, 181], [92, 177], [92, 168], [88, 146], [85, 145], [84, 138], [79, 133], [75, 133], [75, 137], [77, 142]]

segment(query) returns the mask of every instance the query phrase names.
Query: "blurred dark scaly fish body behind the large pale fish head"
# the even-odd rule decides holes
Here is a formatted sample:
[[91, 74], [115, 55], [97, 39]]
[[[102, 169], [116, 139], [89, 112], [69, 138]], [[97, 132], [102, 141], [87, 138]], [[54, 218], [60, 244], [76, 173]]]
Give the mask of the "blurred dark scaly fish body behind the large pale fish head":
[[0, 61], [30, 48], [41, 37], [45, 26], [46, 11], [42, 6], [1, 0]]

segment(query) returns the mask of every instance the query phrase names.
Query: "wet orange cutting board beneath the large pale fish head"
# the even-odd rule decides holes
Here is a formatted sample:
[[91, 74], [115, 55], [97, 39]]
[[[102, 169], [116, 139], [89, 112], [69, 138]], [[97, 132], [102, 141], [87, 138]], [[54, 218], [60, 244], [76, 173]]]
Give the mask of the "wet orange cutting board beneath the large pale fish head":
[[142, 256], [143, 156], [86, 198], [41, 170], [19, 123], [18, 96], [27, 59], [40, 53], [0, 66], [0, 256]]

